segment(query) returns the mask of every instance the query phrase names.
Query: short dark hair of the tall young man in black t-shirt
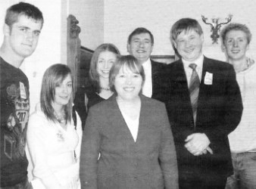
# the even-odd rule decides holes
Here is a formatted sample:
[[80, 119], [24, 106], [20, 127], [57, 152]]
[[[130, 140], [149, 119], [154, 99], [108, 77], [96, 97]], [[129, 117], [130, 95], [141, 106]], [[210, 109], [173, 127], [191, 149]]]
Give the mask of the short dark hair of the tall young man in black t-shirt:
[[36, 6], [31, 5], [26, 2], [20, 2], [18, 4], [12, 5], [7, 9], [5, 15], [5, 23], [11, 27], [14, 23], [17, 23], [18, 17], [24, 15], [35, 21], [44, 22], [42, 17], [42, 12]]

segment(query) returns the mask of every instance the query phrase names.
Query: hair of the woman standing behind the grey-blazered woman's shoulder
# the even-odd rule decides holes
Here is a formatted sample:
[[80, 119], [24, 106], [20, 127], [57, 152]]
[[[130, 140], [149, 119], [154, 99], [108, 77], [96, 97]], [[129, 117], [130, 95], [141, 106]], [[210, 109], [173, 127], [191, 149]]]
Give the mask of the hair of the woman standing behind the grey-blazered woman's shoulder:
[[100, 92], [100, 87], [101, 87], [99, 82], [99, 75], [97, 71], [98, 57], [99, 57], [99, 54], [101, 54], [101, 52], [104, 52], [104, 51], [110, 51], [114, 54], [117, 54], [117, 57], [120, 55], [120, 51], [117, 49], [115, 45], [111, 43], [104, 43], [102, 45], [99, 45], [98, 48], [95, 49], [92, 55], [92, 60], [90, 64], [89, 79], [96, 92]]

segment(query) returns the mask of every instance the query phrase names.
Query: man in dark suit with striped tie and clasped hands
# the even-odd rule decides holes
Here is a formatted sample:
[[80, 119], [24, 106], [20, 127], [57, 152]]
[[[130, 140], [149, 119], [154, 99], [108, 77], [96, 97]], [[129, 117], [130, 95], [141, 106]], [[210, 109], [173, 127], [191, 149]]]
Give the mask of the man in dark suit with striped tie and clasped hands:
[[170, 35], [182, 57], [164, 75], [180, 188], [225, 188], [233, 174], [227, 135], [242, 116], [236, 73], [232, 65], [204, 57], [197, 20], [178, 20]]

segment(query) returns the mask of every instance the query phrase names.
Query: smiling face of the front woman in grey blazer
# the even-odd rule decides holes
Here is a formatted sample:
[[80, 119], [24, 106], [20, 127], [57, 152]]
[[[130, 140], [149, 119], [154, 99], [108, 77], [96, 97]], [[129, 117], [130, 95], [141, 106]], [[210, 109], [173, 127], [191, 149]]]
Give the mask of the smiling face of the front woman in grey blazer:
[[117, 91], [117, 98], [120, 100], [136, 100], [142, 89], [142, 76], [139, 73], [133, 73], [126, 66], [121, 67], [114, 79], [114, 88]]

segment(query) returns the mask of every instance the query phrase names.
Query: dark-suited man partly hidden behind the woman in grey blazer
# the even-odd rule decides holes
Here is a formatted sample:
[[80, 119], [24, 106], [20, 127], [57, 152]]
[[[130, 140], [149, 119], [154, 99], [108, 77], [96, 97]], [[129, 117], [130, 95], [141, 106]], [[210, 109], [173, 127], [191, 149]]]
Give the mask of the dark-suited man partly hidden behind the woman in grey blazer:
[[142, 63], [145, 71], [142, 94], [158, 101], [164, 101], [164, 82], [162, 82], [164, 78], [162, 73], [166, 65], [150, 59], [153, 48], [154, 36], [148, 29], [139, 27], [130, 34], [127, 42], [127, 51]]

